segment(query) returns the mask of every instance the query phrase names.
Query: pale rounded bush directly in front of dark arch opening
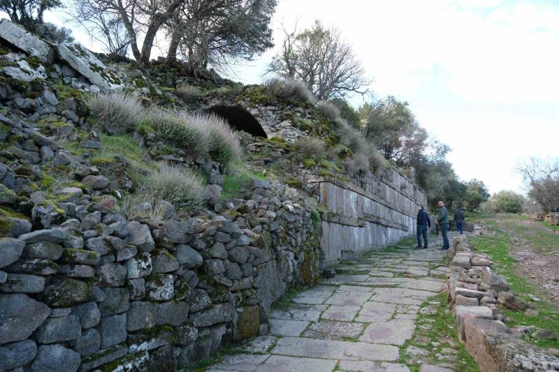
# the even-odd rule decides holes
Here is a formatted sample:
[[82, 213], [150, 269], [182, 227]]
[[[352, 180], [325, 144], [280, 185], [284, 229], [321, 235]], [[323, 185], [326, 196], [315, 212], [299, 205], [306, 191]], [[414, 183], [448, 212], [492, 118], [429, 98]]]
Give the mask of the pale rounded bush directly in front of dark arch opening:
[[239, 140], [231, 126], [215, 114], [201, 112], [179, 112], [180, 120], [187, 126], [201, 128], [207, 135], [206, 144], [210, 156], [220, 163], [229, 163], [239, 158], [242, 151]]

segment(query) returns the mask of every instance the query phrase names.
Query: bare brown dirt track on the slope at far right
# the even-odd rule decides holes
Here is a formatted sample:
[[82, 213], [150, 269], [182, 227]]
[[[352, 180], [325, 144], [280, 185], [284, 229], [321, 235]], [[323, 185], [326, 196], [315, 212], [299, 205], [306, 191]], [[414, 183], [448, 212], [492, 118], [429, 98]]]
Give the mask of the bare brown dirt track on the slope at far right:
[[549, 302], [559, 306], [559, 231], [538, 221], [508, 217], [496, 220], [511, 238], [511, 257], [522, 275], [542, 288]]

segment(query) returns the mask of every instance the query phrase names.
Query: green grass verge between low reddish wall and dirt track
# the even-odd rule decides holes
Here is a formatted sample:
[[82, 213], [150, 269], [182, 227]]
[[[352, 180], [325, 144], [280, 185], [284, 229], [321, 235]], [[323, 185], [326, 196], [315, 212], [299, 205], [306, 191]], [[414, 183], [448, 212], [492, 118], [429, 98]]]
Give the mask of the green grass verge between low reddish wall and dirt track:
[[[559, 242], [559, 236], [555, 235], [555, 245], [545, 246], [545, 244], [551, 244], [549, 237], [539, 238], [535, 237], [532, 232], [526, 232], [525, 229], [521, 228], [514, 221], [520, 221], [517, 216], [514, 215], [500, 215], [500, 219], [503, 220], [504, 225], [513, 228], [514, 232], [518, 232], [518, 235], [523, 235], [524, 239], [527, 239], [530, 244], [535, 244], [536, 249], [549, 250], [555, 248]], [[474, 243], [474, 248], [476, 251], [481, 253], [486, 253], [489, 255], [491, 260], [495, 262], [493, 269], [504, 278], [507, 278], [509, 285], [514, 292], [516, 292], [521, 298], [530, 302], [537, 308], [539, 312], [538, 315], [525, 315], [521, 311], [511, 311], [507, 308], [502, 309], [502, 314], [511, 320], [507, 322], [509, 327], [515, 325], [532, 325], [538, 328], [546, 328], [559, 334], [559, 311], [555, 305], [551, 302], [539, 301], [534, 302], [528, 295], [535, 295], [542, 298], [539, 288], [532, 285], [526, 278], [524, 278], [521, 272], [518, 270], [518, 265], [514, 258], [509, 255], [509, 246], [511, 246], [511, 238], [507, 232], [500, 229], [497, 221], [495, 221], [495, 216], [488, 216], [484, 218], [486, 228], [491, 232], [491, 235], [479, 235], [471, 239]], [[530, 336], [526, 337], [527, 341], [534, 343], [540, 348], [559, 348], [559, 340], [536, 340]]]

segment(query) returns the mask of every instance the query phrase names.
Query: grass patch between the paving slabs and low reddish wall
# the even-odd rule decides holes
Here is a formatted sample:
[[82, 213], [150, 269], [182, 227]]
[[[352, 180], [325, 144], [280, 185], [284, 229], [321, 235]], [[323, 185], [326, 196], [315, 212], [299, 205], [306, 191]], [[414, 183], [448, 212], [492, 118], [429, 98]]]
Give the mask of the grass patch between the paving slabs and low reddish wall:
[[[454, 364], [454, 371], [457, 372], [479, 372], [479, 368], [474, 362], [474, 359], [465, 349], [464, 345], [458, 341], [458, 327], [454, 321], [452, 312], [449, 310], [447, 293], [441, 293], [430, 302], [435, 302], [436, 305], [423, 304], [425, 306], [434, 306], [436, 309], [435, 314], [421, 314], [416, 320], [416, 331], [414, 336], [408, 340], [404, 345], [400, 346], [400, 363], [406, 364], [412, 372], [419, 372], [421, 364], [414, 363], [412, 359], [416, 357], [409, 357], [405, 350], [408, 346], [415, 346], [423, 350], [427, 350], [428, 355], [424, 358], [430, 364], [437, 364], [446, 362], [444, 359], [437, 359], [436, 355], [440, 354], [443, 348], [453, 348], [457, 352], [458, 359], [451, 364]], [[420, 342], [426, 339], [425, 342]], [[433, 345], [433, 342], [439, 343]]]

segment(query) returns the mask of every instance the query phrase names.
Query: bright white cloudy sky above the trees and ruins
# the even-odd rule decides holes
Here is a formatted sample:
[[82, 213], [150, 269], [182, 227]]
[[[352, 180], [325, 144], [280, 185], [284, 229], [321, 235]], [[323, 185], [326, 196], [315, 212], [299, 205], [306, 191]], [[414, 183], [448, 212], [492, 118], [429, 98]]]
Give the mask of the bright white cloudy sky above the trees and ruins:
[[[46, 19], [64, 22], [60, 12]], [[289, 29], [314, 20], [342, 31], [377, 97], [407, 101], [419, 124], [449, 144], [460, 179], [481, 179], [491, 193], [523, 192], [515, 165], [559, 156], [559, 1], [279, 0], [277, 47], [282, 22]], [[233, 79], [261, 82], [277, 47], [236, 66]]]

